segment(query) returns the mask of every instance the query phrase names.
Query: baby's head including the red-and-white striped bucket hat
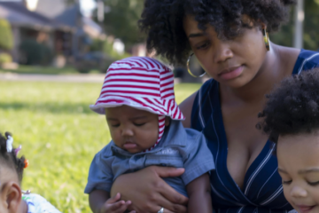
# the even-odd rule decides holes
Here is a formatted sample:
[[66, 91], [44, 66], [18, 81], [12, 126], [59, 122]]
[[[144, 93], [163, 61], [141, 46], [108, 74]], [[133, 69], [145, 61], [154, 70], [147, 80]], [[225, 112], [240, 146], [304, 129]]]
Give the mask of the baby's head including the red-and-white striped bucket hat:
[[115, 61], [90, 108], [106, 115], [113, 142], [130, 153], [150, 151], [169, 119], [184, 119], [175, 102], [173, 73], [147, 57]]

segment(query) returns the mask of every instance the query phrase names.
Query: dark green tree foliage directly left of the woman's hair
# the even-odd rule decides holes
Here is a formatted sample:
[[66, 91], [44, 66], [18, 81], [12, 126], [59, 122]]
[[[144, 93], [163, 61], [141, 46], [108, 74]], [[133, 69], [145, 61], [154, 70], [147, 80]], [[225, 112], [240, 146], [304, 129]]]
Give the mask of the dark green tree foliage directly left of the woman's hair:
[[105, 0], [105, 6], [111, 11], [105, 13], [105, 31], [109, 35], [120, 38], [126, 48], [143, 41], [137, 27], [144, 8], [144, 0]]

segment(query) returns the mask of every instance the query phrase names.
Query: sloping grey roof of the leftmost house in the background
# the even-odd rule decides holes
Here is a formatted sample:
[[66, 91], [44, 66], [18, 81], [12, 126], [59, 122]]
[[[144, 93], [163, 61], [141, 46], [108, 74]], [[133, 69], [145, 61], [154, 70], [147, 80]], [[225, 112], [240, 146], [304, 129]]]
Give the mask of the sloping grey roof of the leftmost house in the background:
[[0, 18], [8, 20], [12, 25], [29, 28], [66, 29], [56, 20], [51, 20], [38, 12], [30, 12], [19, 2], [0, 2]]

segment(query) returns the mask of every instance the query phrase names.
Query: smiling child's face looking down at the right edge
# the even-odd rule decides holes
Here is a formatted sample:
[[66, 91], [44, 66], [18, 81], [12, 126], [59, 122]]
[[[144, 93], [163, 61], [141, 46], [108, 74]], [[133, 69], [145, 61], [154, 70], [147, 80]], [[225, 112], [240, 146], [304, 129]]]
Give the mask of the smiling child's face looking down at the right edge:
[[287, 201], [300, 213], [318, 213], [319, 134], [279, 137], [277, 158]]

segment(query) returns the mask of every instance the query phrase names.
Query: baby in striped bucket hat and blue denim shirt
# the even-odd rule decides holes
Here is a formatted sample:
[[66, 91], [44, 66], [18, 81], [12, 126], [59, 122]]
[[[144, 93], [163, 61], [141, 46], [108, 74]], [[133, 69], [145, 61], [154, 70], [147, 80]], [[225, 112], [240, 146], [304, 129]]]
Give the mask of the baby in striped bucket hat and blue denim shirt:
[[[181, 177], [164, 180], [189, 197], [189, 212], [213, 212], [211, 199], [206, 198], [210, 196], [206, 193], [210, 190], [207, 172], [214, 170], [213, 155], [200, 132], [183, 128], [184, 116], [175, 102], [174, 75], [168, 67], [147, 57], [113, 62], [96, 104], [89, 107], [105, 114], [112, 137], [89, 168], [84, 192], [89, 193], [93, 212], [130, 209], [131, 201], [121, 201], [121, 194], [110, 198], [113, 181], [152, 165], [184, 168]], [[203, 197], [200, 192], [196, 197], [188, 194], [194, 189], [202, 190]]]

